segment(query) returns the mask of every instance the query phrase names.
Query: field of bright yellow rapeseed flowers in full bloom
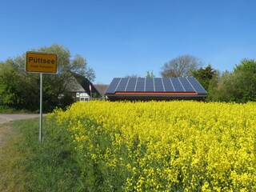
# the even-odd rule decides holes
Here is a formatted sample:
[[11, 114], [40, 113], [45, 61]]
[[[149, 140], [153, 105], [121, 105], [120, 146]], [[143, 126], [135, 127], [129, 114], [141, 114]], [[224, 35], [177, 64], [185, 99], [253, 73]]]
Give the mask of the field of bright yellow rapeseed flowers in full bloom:
[[77, 102], [70, 131], [101, 191], [256, 191], [256, 103]]

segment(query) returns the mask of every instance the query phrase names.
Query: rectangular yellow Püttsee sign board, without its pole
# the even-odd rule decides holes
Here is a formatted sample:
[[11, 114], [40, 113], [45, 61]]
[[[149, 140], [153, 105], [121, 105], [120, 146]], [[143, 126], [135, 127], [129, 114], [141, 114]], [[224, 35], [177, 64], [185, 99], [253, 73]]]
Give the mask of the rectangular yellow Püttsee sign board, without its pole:
[[27, 51], [26, 72], [57, 73], [57, 55]]

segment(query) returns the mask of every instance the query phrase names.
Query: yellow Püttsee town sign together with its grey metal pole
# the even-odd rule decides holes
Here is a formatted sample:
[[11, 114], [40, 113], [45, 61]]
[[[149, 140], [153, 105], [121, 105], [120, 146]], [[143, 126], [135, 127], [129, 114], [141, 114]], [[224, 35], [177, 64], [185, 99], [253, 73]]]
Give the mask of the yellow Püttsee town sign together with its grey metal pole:
[[42, 74], [57, 73], [57, 55], [42, 52], [26, 52], [26, 72], [40, 74], [40, 125], [39, 142], [42, 142]]

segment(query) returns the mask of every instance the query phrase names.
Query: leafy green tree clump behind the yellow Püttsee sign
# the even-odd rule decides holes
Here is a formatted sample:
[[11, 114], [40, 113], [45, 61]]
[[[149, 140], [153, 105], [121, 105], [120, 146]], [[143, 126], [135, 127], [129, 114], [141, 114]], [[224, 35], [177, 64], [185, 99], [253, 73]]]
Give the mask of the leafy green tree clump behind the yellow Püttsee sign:
[[[74, 81], [72, 73], [85, 76], [93, 81], [94, 70], [87, 66], [85, 58], [71, 54], [64, 46], [54, 44], [42, 47], [40, 52], [58, 55], [58, 73], [43, 75], [43, 110], [50, 111], [56, 106], [63, 106], [60, 96], [65, 96], [67, 85]], [[7, 59], [0, 65], [0, 104], [16, 109], [38, 110], [39, 108], [39, 74], [26, 73], [25, 54], [14, 59]], [[66, 97], [70, 98], [70, 97]]]

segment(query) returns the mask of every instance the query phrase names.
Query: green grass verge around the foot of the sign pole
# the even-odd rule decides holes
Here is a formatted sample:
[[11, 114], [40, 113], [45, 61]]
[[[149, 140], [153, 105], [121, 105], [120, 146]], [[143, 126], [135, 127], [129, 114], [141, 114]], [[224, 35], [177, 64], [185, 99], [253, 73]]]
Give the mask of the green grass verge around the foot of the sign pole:
[[18, 131], [0, 149], [0, 191], [86, 191], [66, 130], [44, 119], [40, 143], [38, 119], [10, 126]]

